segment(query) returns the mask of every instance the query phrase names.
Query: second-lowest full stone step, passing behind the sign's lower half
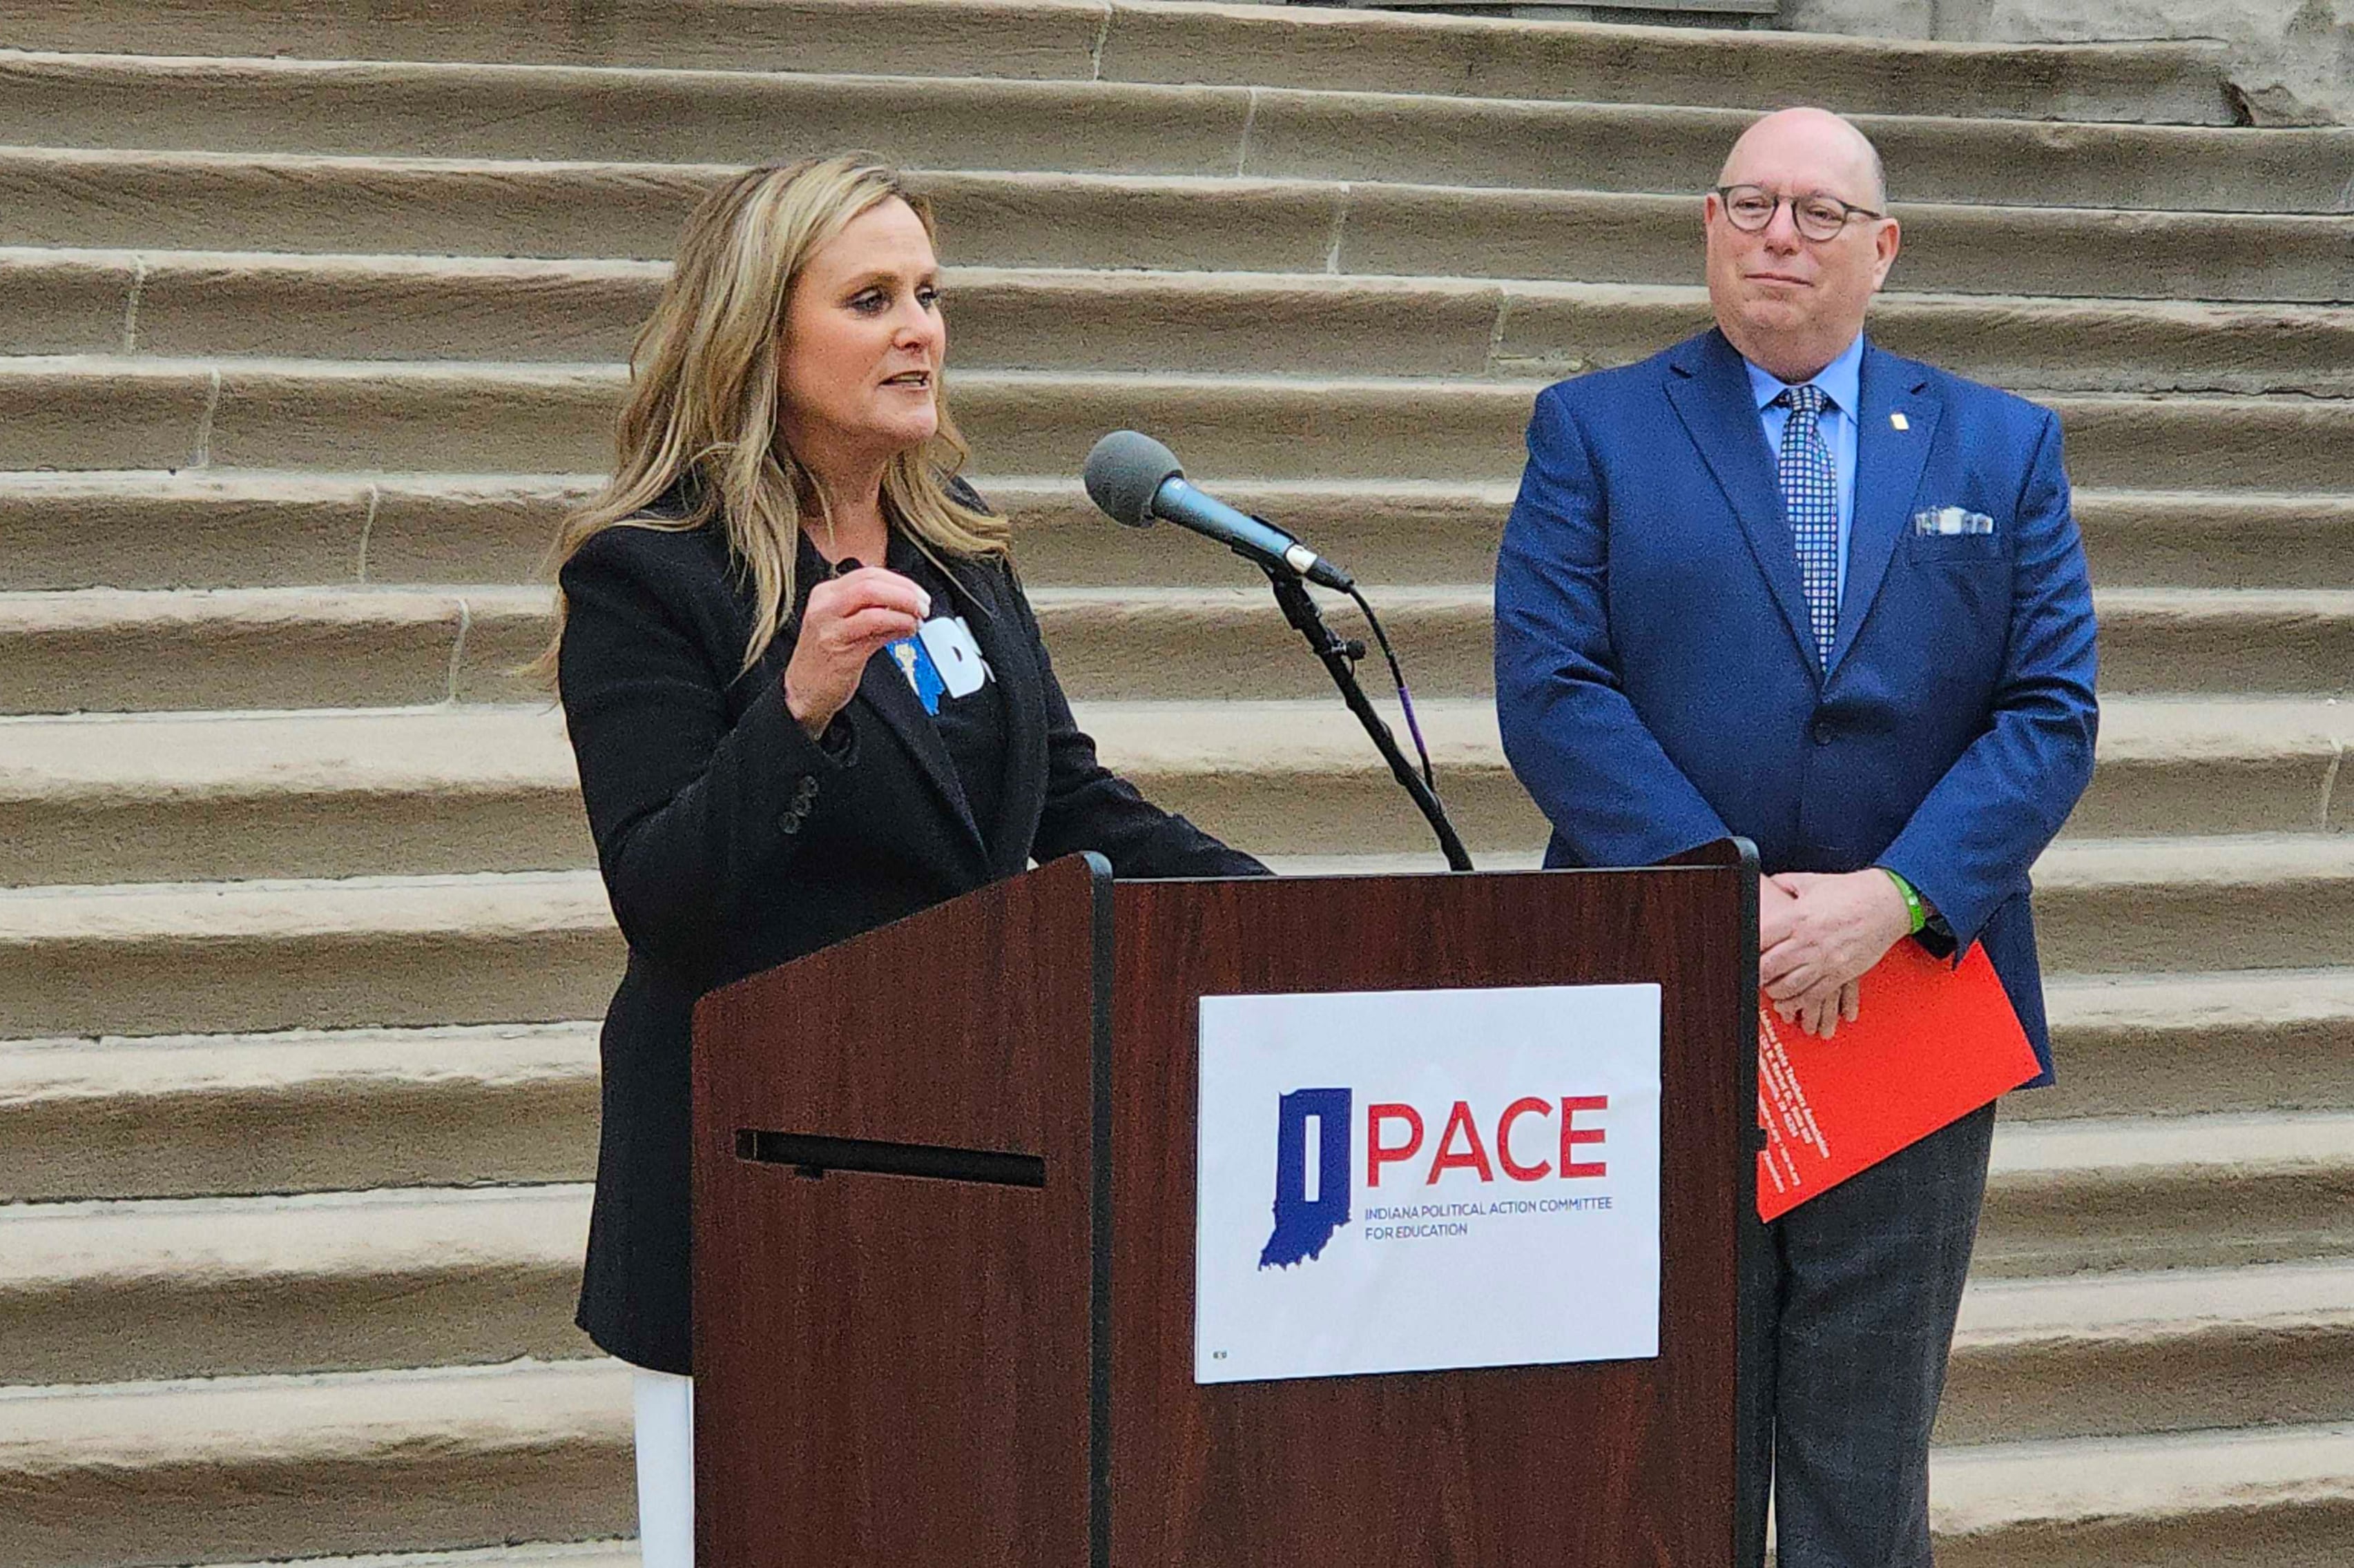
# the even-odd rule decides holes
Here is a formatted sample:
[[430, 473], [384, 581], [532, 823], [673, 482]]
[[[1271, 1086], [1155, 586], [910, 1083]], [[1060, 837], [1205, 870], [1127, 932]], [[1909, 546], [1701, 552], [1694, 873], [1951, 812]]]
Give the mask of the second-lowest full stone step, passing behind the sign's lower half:
[[[2029, 1184], [2006, 1170], [1994, 1203]], [[586, 1349], [572, 1328], [586, 1227], [586, 1187], [7, 1205], [7, 1375], [92, 1384], [572, 1356]], [[1989, 1255], [2006, 1243], [1989, 1220]], [[2347, 1257], [1989, 1274], [1963, 1297], [1940, 1439], [2354, 1420], [2349, 1283]]]

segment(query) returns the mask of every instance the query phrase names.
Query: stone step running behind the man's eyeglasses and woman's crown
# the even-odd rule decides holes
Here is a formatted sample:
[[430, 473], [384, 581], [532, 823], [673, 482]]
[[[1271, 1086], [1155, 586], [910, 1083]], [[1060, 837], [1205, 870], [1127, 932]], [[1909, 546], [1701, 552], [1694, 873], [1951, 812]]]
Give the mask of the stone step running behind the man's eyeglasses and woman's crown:
[[[669, 259], [727, 165], [0, 148], [0, 245]], [[956, 264], [1697, 283], [1693, 195], [918, 172]], [[1707, 181], [1700, 181], [1707, 184]], [[1695, 186], [1697, 188], [1697, 186]], [[1897, 287], [2354, 301], [2354, 214], [1907, 202]]]

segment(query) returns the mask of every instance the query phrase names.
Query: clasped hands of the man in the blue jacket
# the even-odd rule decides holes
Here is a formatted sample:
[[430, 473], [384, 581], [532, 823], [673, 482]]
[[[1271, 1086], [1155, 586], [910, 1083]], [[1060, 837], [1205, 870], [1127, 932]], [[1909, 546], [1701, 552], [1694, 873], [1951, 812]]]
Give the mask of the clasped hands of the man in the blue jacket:
[[1758, 883], [1758, 984], [1784, 1022], [1831, 1038], [1862, 1017], [1862, 975], [1911, 932], [1904, 895], [1878, 866]]

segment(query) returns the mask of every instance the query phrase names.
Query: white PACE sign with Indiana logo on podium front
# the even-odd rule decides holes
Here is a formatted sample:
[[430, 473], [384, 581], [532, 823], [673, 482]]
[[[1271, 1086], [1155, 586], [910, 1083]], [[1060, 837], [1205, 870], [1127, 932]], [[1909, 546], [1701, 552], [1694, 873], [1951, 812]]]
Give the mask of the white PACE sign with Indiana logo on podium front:
[[1193, 1377], [1660, 1354], [1660, 986], [1205, 996]]

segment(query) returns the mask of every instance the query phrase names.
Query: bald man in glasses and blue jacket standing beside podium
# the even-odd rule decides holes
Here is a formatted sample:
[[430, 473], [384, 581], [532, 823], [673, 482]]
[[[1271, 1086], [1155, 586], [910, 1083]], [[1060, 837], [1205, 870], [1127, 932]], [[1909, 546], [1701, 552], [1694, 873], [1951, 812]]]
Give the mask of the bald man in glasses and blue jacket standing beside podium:
[[[1495, 582], [1549, 866], [1756, 841], [1761, 982], [1813, 1034], [1897, 942], [1987, 949], [2050, 1081], [2027, 871], [2093, 775], [2093, 598], [2050, 412], [1871, 346], [1897, 259], [1846, 120], [1702, 198], [1716, 330], [1547, 388]], [[1923, 1057], [1937, 1041], [1923, 1038]], [[1930, 1561], [1928, 1434], [1994, 1107], [1744, 1245], [1740, 1561]]]

